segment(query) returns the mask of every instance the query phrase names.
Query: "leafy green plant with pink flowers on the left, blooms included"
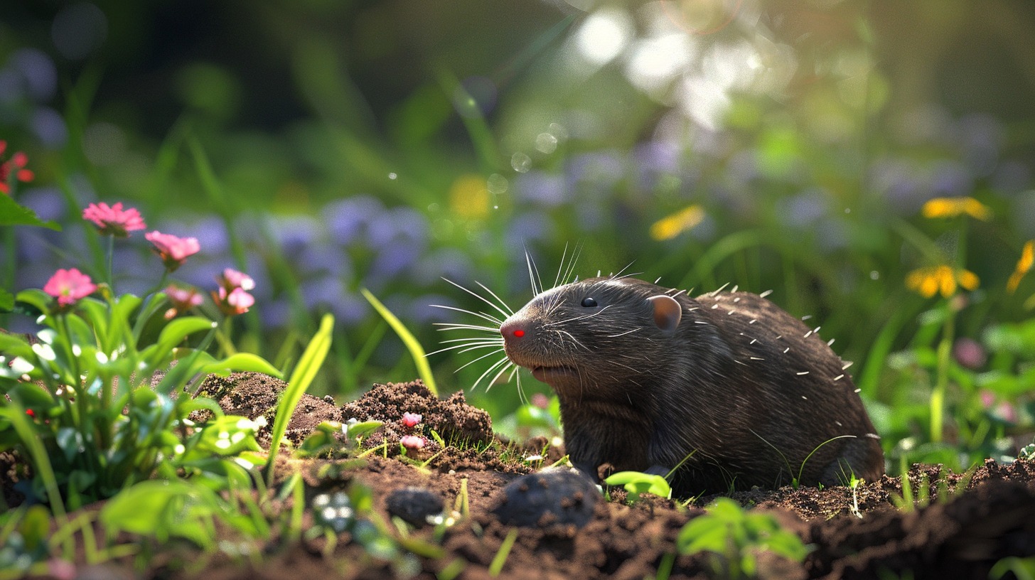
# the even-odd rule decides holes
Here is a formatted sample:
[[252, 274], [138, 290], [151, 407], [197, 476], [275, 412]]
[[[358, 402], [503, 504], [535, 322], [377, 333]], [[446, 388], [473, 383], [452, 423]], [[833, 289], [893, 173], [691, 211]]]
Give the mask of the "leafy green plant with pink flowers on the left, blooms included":
[[[116, 237], [146, 228], [121, 203], [90, 204], [83, 219], [110, 238], [109, 254]], [[266, 461], [254, 453], [258, 426], [223, 416], [214, 401], [193, 397], [191, 386], [209, 374], [280, 372], [235, 353], [207, 316], [185, 315], [203, 301], [196, 289], [157, 291], [200, 250], [197, 239], [158, 231], [145, 237], [165, 264], [155, 291], [116, 295], [110, 265], [101, 268], [109, 282], [100, 284], [76, 268], [58, 269], [41, 290], [24, 290], [11, 304], [42, 329], [34, 337], [0, 332], [0, 450], [19, 451], [34, 474], [30, 494], [59, 518], [66, 506], [111, 497], [154, 474], [190, 475], [219, 489], [228, 473], [242, 469], [235, 461]], [[232, 269], [217, 280], [212, 295], [224, 320], [247, 312], [255, 282]], [[207, 352], [216, 338], [232, 354]], [[214, 418], [198, 426], [189, 416], [201, 410]]]

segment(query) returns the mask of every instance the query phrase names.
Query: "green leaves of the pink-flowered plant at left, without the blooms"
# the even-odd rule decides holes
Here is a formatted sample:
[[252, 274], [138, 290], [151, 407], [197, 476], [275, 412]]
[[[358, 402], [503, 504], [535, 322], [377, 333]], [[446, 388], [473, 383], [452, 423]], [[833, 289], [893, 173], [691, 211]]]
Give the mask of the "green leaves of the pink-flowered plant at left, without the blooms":
[[[0, 335], [0, 394], [5, 396], [0, 448], [17, 448], [26, 458], [36, 474], [33, 493], [48, 498], [52, 508], [58, 509], [62, 497], [72, 509], [111, 497], [159, 469], [169, 474], [189, 467], [217, 481], [223, 468], [198, 456], [201, 448], [217, 448], [204, 444], [212, 437], [226, 435], [235, 451], [258, 450], [247, 426], [236, 429], [240, 417], [217, 418], [209, 426], [188, 422], [202, 409], [223, 415], [215, 402], [190, 397], [189, 386], [199, 379], [231, 371], [280, 374], [255, 355], [215, 358], [205, 352], [216, 332], [214, 322], [199, 316], [155, 317], [165, 300], [160, 293], [145, 304], [131, 294], [106, 292], [103, 299], [87, 297], [70, 309], [38, 290], [17, 298], [22, 308], [41, 313], [45, 328], [33, 340]], [[134, 324], [135, 318], [147, 322]], [[186, 346], [202, 331], [197, 346]], [[24, 421], [27, 416], [30, 421]]]

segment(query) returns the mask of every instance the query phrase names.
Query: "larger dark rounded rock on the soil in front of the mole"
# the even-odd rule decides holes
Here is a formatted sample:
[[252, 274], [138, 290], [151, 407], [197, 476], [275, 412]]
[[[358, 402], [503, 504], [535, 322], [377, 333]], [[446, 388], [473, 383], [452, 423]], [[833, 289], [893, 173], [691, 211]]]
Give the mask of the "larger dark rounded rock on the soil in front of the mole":
[[574, 469], [544, 469], [523, 475], [504, 490], [493, 513], [501, 522], [519, 526], [574, 524], [593, 519], [600, 497], [593, 482]]

